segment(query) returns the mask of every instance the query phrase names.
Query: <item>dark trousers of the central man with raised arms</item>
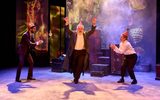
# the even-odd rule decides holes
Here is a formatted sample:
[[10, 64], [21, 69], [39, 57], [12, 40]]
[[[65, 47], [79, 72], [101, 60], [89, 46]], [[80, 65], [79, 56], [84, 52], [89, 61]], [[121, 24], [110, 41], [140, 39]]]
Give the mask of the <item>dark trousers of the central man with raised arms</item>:
[[71, 56], [71, 69], [73, 71], [74, 80], [78, 81], [84, 67], [84, 59], [86, 50], [74, 50]]

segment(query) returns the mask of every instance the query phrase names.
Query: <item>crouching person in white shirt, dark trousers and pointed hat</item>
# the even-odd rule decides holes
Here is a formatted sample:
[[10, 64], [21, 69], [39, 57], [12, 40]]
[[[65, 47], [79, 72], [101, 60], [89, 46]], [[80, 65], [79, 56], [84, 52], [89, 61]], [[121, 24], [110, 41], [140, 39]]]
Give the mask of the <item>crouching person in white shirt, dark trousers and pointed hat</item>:
[[120, 40], [121, 42], [119, 48], [115, 44], [110, 45], [111, 49], [113, 49], [116, 53], [124, 54], [124, 61], [121, 67], [121, 79], [118, 81], [118, 83], [124, 83], [124, 76], [127, 69], [131, 79], [133, 79], [131, 84], [137, 84], [133, 70], [137, 61], [137, 54], [128, 41], [128, 29], [121, 35]]

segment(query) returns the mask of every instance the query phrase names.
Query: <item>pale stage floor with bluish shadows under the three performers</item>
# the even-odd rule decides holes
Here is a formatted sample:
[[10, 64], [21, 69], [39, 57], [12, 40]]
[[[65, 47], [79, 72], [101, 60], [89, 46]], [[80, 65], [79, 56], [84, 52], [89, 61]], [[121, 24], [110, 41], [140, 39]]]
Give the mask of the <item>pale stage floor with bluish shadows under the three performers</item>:
[[34, 68], [37, 80], [26, 81], [27, 68], [22, 69], [22, 83], [15, 82], [16, 68], [0, 71], [0, 100], [160, 100], [160, 80], [154, 72], [136, 72], [138, 84], [116, 83], [120, 76], [81, 76], [72, 82], [71, 73], [51, 72], [51, 67]]

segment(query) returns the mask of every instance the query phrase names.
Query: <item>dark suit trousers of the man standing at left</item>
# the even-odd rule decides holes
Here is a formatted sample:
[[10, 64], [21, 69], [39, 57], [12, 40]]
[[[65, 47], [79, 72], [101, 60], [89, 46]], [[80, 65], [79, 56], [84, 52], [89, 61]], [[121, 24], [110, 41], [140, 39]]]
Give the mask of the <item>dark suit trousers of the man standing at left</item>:
[[19, 54], [19, 63], [18, 63], [18, 68], [17, 68], [17, 73], [16, 73], [16, 80], [20, 79], [21, 70], [24, 65], [25, 58], [29, 62], [29, 69], [28, 69], [28, 77], [27, 78], [29, 79], [29, 78], [32, 78], [32, 76], [33, 76], [33, 58], [31, 56], [31, 54], [29, 53], [26, 56], [24, 54]]

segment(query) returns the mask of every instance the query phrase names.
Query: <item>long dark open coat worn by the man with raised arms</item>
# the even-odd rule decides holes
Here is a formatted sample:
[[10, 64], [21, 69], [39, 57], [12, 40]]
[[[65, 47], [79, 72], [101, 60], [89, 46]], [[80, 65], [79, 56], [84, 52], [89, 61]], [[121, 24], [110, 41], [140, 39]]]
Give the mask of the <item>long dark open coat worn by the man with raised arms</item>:
[[[96, 29], [96, 26], [92, 26], [90, 31], [83, 33], [84, 47], [85, 47], [85, 49], [87, 51], [86, 56], [85, 56], [85, 60], [84, 60], [83, 71], [86, 71], [89, 68], [89, 50], [88, 50], [87, 39], [89, 38], [89, 36], [91, 34], [94, 33], [95, 29]], [[71, 55], [73, 53], [73, 50], [75, 48], [75, 44], [76, 44], [76, 40], [77, 40], [77, 33], [69, 30], [69, 26], [68, 25], [66, 26], [66, 32], [70, 36], [70, 41], [69, 41], [69, 47], [68, 47], [68, 50], [67, 50], [67, 53], [66, 53], [66, 57], [65, 57], [64, 63], [63, 63], [63, 69], [72, 72], [72, 69], [71, 69], [69, 63], [71, 62], [70, 61], [70, 57], [71, 57]]]

